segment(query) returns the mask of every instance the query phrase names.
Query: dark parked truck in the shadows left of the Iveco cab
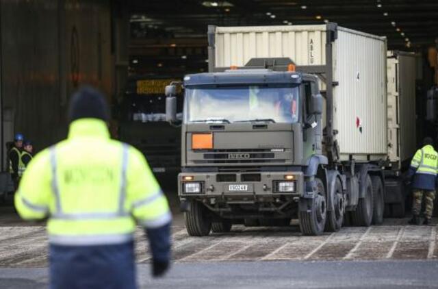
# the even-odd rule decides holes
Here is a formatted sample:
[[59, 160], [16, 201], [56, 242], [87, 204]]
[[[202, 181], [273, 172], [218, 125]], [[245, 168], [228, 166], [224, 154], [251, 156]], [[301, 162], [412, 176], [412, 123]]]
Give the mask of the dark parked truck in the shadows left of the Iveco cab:
[[[181, 129], [166, 121], [164, 109], [164, 87], [175, 80], [148, 75], [130, 77], [118, 105], [118, 138], [144, 153], [161, 184], [175, 180], [181, 167]], [[181, 112], [182, 98], [177, 102]], [[171, 184], [175, 187], [175, 181]]]

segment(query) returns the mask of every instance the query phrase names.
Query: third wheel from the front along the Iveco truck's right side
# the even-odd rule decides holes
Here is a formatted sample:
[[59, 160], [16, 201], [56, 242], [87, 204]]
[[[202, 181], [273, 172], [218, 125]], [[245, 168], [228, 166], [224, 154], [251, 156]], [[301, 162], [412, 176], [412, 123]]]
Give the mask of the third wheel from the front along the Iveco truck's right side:
[[372, 221], [373, 212], [373, 190], [370, 175], [365, 178], [365, 197], [359, 199], [356, 210], [351, 212], [352, 224], [354, 226], [369, 227]]

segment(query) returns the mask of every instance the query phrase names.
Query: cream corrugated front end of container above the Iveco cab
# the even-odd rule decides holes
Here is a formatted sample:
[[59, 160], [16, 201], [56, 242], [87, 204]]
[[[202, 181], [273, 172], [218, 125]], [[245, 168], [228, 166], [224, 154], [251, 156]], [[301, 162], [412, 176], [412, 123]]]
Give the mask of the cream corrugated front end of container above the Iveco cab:
[[216, 67], [251, 58], [290, 58], [298, 65], [326, 62], [326, 25], [217, 27]]

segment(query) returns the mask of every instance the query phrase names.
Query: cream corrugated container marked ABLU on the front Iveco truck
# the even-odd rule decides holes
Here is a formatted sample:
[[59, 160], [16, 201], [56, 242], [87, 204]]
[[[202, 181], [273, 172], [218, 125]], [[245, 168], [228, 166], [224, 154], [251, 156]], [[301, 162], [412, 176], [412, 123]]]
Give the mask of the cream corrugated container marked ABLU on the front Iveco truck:
[[251, 58], [290, 58], [297, 71], [324, 71], [320, 88], [332, 112], [326, 121], [333, 124], [332, 147], [339, 146], [332, 149], [335, 159], [387, 158], [386, 38], [334, 23], [215, 27], [210, 48], [214, 68], [244, 66]]

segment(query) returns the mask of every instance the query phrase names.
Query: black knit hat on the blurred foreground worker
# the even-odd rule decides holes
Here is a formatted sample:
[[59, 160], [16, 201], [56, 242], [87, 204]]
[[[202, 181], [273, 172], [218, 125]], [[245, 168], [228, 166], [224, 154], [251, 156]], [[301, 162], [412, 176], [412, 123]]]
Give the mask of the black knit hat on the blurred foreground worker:
[[110, 112], [105, 97], [99, 90], [83, 86], [70, 99], [68, 120], [70, 123], [79, 118], [98, 118], [108, 121]]

